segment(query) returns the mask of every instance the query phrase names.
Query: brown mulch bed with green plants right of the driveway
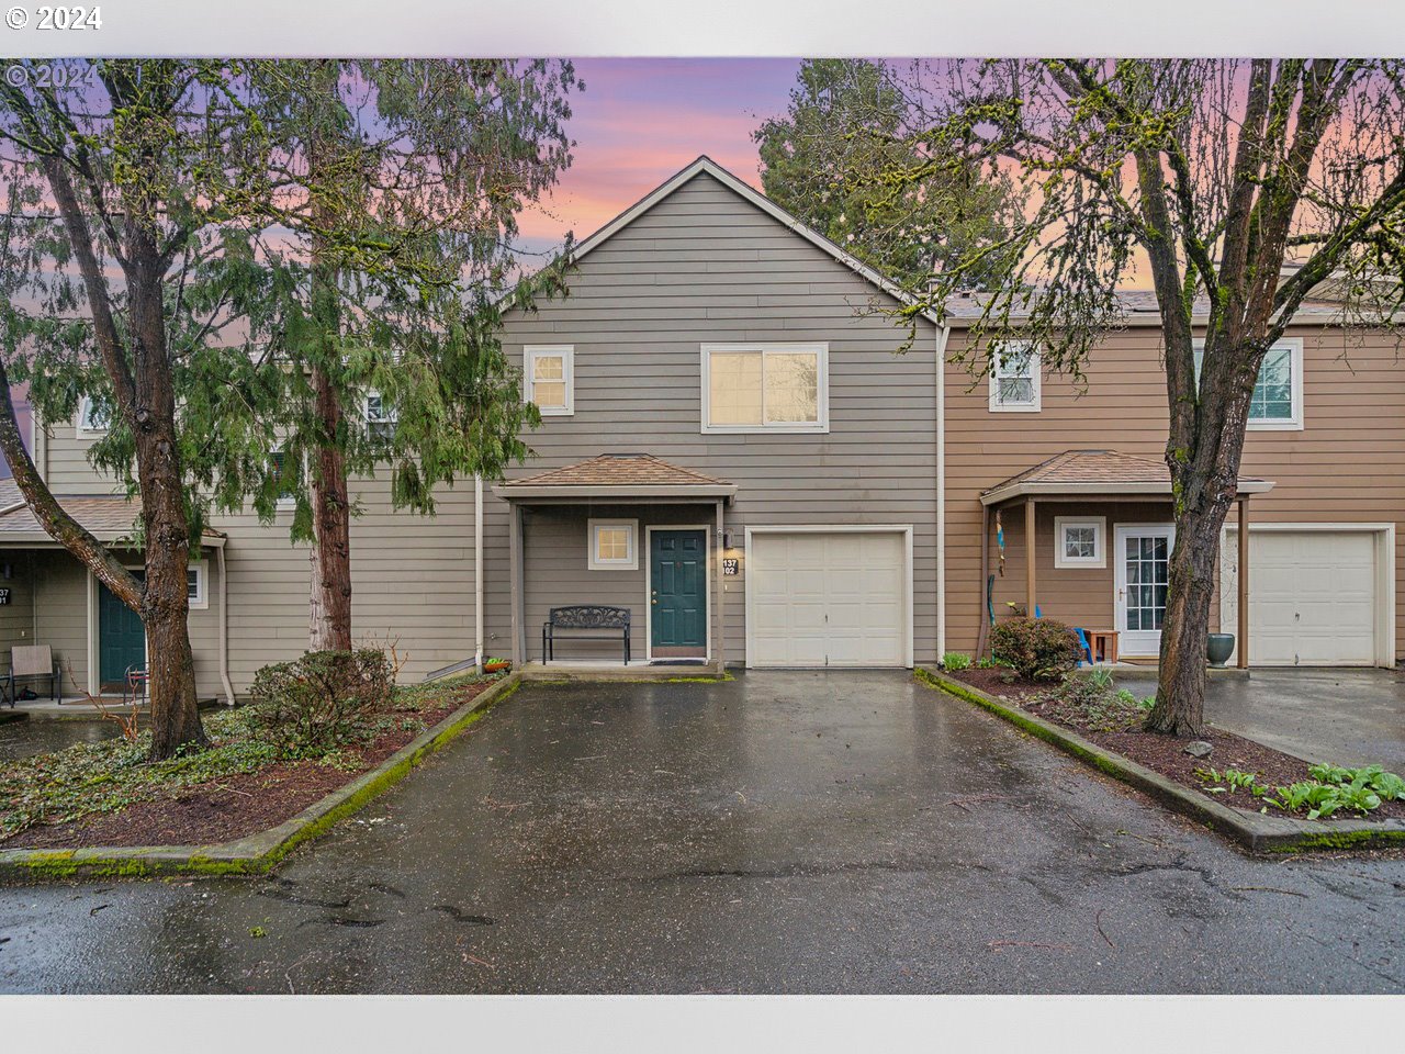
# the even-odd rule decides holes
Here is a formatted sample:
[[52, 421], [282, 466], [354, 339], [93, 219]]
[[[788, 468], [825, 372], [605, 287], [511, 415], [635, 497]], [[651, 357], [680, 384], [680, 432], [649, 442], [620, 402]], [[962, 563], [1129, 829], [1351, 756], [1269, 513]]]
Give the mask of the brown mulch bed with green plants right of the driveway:
[[[1205, 729], [1203, 739], [1214, 750], [1208, 757], [1191, 757], [1186, 753], [1186, 739], [1155, 735], [1152, 732], [1094, 732], [1079, 728], [1068, 721], [1059, 721], [1052, 714], [1043, 713], [1038, 707], [1027, 707], [1026, 703], [1031, 696], [1048, 691], [1052, 687], [1048, 683], [1026, 680], [1006, 683], [1005, 677], [1009, 676], [1009, 670], [996, 669], [967, 669], [960, 673], [948, 673], [947, 676], [965, 682], [988, 696], [996, 696], [1006, 703], [1013, 703], [1021, 710], [1038, 714], [1045, 721], [1068, 728], [1085, 739], [1114, 750], [1123, 755], [1123, 757], [1130, 757], [1138, 765], [1144, 765], [1152, 772], [1158, 772], [1191, 790], [1204, 790], [1205, 784], [1196, 776], [1196, 770], [1210, 767], [1220, 772], [1225, 769], [1252, 772], [1259, 777], [1259, 783], [1266, 787], [1286, 787], [1298, 780], [1312, 779], [1308, 774], [1308, 762], [1304, 762], [1301, 757], [1274, 750], [1272, 746], [1256, 743], [1234, 732], [1222, 732], [1213, 728]], [[1326, 757], [1322, 760], [1331, 762], [1333, 759]], [[1249, 812], [1257, 812], [1263, 808], [1263, 802], [1249, 791], [1227, 791], [1224, 794], [1207, 794], [1205, 797], [1221, 801], [1225, 805], [1248, 809]], [[1269, 807], [1269, 815], [1297, 816], [1298, 819], [1304, 816], [1304, 814], [1284, 812], [1272, 805]], [[1342, 809], [1328, 816], [1324, 822], [1333, 819], [1405, 819], [1405, 801], [1383, 801], [1380, 807], [1371, 809], [1364, 816], [1360, 812]]]

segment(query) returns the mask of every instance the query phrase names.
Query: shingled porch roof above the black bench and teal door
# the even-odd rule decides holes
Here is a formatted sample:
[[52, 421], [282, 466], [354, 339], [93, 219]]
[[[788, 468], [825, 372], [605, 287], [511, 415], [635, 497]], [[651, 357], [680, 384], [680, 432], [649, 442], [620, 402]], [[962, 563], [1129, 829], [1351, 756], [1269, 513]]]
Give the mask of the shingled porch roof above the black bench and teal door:
[[583, 500], [646, 497], [677, 500], [729, 500], [736, 483], [708, 476], [652, 454], [600, 454], [573, 465], [509, 479], [493, 493], [517, 500]]

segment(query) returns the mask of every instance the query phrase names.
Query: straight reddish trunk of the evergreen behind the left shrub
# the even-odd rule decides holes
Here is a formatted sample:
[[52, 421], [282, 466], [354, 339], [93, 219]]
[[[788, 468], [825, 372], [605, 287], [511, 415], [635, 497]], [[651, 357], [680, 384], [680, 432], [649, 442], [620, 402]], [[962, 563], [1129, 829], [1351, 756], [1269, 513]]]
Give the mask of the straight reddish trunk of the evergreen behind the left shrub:
[[[341, 403], [323, 370], [312, 377], [320, 427], [334, 436]], [[347, 500], [346, 457], [336, 443], [316, 450], [312, 472], [312, 592], [308, 646], [351, 649], [351, 506]]]

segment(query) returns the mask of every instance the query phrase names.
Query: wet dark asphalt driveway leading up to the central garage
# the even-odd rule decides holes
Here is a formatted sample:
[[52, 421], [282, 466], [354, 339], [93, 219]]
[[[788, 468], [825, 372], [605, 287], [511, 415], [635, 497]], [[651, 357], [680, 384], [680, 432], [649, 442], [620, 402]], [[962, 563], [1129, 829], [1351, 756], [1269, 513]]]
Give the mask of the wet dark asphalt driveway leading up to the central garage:
[[1399, 992], [1405, 861], [1242, 856], [903, 673], [538, 684], [275, 877], [0, 888], [0, 988]]

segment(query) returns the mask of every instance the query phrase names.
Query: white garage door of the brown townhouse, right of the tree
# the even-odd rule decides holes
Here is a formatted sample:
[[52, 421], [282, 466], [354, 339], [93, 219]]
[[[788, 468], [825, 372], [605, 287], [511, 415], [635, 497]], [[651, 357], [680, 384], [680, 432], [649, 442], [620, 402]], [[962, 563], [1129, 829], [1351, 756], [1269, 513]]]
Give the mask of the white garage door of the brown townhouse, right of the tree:
[[[1225, 544], [1225, 630], [1238, 624], [1238, 538]], [[1375, 663], [1375, 534], [1249, 528], [1249, 662]]]

